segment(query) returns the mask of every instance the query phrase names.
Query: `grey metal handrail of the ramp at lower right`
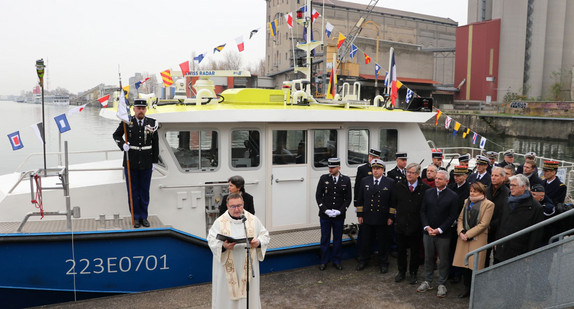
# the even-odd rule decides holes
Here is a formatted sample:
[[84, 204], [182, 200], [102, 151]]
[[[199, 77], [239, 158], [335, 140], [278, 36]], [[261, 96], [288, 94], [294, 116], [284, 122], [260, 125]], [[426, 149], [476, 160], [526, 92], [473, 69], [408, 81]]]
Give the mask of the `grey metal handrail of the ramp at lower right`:
[[[537, 230], [537, 229], [539, 229], [539, 228], [546, 227], [546, 226], [548, 226], [548, 225], [550, 225], [550, 224], [552, 224], [552, 223], [555, 223], [556, 221], [563, 220], [563, 219], [568, 218], [568, 217], [570, 217], [570, 216], [572, 216], [572, 215], [574, 215], [574, 209], [570, 209], [570, 210], [568, 210], [568, 211], [565, 211], [564, 213], [561, 213], [561, 214], [559, 214], [559, 215], [557, 215], [557, 216], [554, 216], [554, 217], [552, 217], [552, 218], [546, 219], [546, 220], [544, 220], [544, 221], [542, 221], [542, 222], [539, 222], [539, 223], [537, 223], [537, 224], [534, 224], [534, 225], [532, 225], [532, 226], [529, 226], [529, 227], [527, 227], [527, 228], [525, 228], [525, 229], [523, 229], [523, 230], [520, 230], [520, 231], [518, 231], [518, 232], [516, 232], [516, 233], [510, 234], [510, 235], [508, 235], [508, 236], [506, 236], [506, 237], [503, 237], [503, 238], [501, 238], [501, 239], [499, 239], [499, 240], [496, 240], [496, 241], [494, 241], [494, 242], [491, 242], [491, 243], [489, 243], [489, 244], [486, 244], [486, 245], [484, 245], [484, 246], [482, 246], [482, 247], [480, 247], [480, 248], [478, 248], [478, 249], [476, 249], [476, 250], [473, 250], [473, 251], [467, 253], [467, 254], [465, 255], [465, 257], [464, 257], [464, 264], [465, 264], [465, 265], [468, 265], [468, 260], [469, 260], [469, 258], [470, 258], [471, 256], [473, 256], [473, 261], [474, 261], [474, 263], [473, 263], [473, 265], [472, 265], [472, 282], [473, 282], [473, 284], [471, 285], [471, 289], [470, 289], [470, 305], [469, 305], [469, 308], [473, 308], [473, 304], [474, 304], [474, 294], [475, 294], [475, 291], [474, 291], [474, 289], [475, 289], [475, 284], [474, 284], [474, 282], [475, 282], [476, 276], [477, 276], [478, 274], [480, 274], [481, 272], [488, 271], [491, 267], [493, 267], [493, 266], [491, 266], [491, 267], [487, 267], [487, 268], [485, 268], [485, 269], [478, 270], [478, 263], [479, 263], [478, 255], [479, 255], [480, 252], [485, 251], [485, 250], [490, 249], [490, 248], [493, 248], [493, 247], [495, 247], [495, 246], [497, 246], [497, 245], [499, 245], [499, 244], [505, 243], [505, 242], [507, 242], [507, 241], [509, 241], [509, 240], [512, 240], [512, 239], [515, 239], [515, 238], [517, 238], [517, 237], [520, 237], [520, 236], [526, 235], [526, 234], [528, 234], [528, 233], [531, 233], [532, 231], [535, 231], [535, 230]], [[570, 230], [570, 231], [567, 231], [567, 232], [564, 232], [564, 233], [561, 233], [561, 234], [558, 234], [558, 235], [556, 235], [556, 236], [559, 236], [559, 235], [560, 235], [559, 237], [560, 237], [560, 239], [562, 239], [565, 235], [569, 234], [568, 232], [574, 232], [574, 229], [573, 229], [573, 230]], [[554, 237], [553, 237], [553, 238], [554, 238]], [[553, 238], [551, 238], [551, 240], [553, 240]], [[501, 263], [498, 263], [498, 264], [496, 264], [496, 267], [502, 267], [502, 266], [504, 266], [504, 265], [506, 265], [506, 264], [509, 264], [509, 263], [515, 262], [515, 261], [517, 261], [517, 260], [520, 260], [520, 259], [522, 259], [522, 258], [523, 258], [524, 256], [526, 256], [526, 255], [532, 255], [532, 254], [535, 254], [536, 252], [544, 251], [544, 250], [546, 250], [546, 247], [538, 248], [538, 249], [536, 249], [536, 250], [533, 250], [533, 251], [527, 252], [527, 253], [525, 253], [525, 254], [516, 256], [516, 257], [514, 257], [514, 258], [512, 258], [512, 259], [509, 259], [509, 260], [503, 261], [503, 262], [501, 262]], [[488, 258], [488, 257], [487, 257], [487, 258]]]

